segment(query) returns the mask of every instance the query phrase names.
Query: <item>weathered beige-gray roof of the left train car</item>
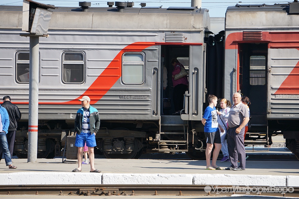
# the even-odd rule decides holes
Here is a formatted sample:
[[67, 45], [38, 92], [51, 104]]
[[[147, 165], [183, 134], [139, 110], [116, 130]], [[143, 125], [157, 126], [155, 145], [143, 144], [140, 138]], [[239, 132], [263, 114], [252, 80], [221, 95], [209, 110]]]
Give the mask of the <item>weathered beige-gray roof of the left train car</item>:
[[[53, 11], [49, 29], [65, 30], [186, 30], [208, 28], [207, 9], [196, 7], [58, 7]], [[0, 6], [0, 27], [21, 28], [22, 6]], [[18, 19], [18, 20], [16, 20]]]

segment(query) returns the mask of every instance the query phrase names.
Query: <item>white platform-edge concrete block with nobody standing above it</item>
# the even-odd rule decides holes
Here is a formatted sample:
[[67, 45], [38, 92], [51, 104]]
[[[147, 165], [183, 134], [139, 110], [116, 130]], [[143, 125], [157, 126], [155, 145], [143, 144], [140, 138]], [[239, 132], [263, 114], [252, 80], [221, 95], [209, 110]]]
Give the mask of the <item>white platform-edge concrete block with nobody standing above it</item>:
[[186, 184], [193, 182], [193, 174], [126, 174], [104, 173], [103, 184]]

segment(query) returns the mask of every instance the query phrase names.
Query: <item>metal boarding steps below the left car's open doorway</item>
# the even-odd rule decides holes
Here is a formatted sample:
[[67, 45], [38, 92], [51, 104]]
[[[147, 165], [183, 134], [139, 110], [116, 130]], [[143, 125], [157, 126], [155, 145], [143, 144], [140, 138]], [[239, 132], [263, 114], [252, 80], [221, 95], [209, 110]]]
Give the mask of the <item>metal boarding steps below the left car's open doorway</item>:
[[[161, 116], [158, 151], [171, 153], [188, 151], [188, 129], [187, 121], [181, 120], [180, 116]], [[165, 139], [167, 137], [168, 139]]]

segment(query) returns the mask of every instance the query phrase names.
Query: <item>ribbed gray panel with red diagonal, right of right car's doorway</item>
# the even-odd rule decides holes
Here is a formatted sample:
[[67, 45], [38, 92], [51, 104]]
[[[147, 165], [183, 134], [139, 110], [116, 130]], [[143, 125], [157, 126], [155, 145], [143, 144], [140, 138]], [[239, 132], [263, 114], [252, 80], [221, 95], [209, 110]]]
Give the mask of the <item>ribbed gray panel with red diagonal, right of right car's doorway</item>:
[[[299, 118], [298, 50], [269, 49], [268, 119]], [[297, 80], [297, 81], [296, 81]]]

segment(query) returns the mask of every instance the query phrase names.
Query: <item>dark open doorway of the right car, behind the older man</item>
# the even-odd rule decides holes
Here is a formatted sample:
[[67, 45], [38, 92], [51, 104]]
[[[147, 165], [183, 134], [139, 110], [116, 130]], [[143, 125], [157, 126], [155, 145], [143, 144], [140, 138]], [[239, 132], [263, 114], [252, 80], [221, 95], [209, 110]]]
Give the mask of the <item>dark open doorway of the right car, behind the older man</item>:
[[268, 44], [239, 44], [239, 89], [251, 105], [252, 131], [267, 131]]

